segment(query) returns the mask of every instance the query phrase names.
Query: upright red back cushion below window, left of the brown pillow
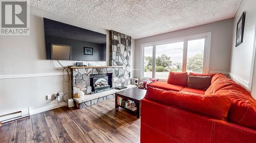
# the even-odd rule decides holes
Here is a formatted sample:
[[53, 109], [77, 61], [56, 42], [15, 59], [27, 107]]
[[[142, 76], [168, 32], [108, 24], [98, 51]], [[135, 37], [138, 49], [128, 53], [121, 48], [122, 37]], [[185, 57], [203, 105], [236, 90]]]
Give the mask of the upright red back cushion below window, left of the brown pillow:
[[187, 72], [169, 72], [167, 83], [187, 86]]

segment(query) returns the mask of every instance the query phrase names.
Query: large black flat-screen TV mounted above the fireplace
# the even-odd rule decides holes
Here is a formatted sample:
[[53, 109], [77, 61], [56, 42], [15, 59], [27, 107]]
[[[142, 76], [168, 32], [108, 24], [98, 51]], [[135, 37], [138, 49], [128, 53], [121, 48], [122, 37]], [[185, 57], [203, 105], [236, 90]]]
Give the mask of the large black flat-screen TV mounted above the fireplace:
[[46, 59], [106, 61], [106, 35], [44, 18]]

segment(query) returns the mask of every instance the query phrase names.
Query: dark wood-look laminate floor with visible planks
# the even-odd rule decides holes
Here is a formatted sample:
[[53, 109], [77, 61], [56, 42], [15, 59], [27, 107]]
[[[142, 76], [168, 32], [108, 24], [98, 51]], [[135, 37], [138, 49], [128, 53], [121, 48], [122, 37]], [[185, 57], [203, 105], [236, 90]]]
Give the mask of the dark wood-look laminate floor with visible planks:
[[140, 142], [140, 120], [115, 99], [83, 109], [61, 107], [5, 123], [0, 142]]

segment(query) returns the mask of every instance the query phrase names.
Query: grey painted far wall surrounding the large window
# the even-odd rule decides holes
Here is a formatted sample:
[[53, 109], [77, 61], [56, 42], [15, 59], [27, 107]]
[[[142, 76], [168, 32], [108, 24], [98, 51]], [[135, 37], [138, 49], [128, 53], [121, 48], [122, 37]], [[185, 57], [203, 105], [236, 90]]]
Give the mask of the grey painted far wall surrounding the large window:
[[133, 77], [140, 78], [141, 44], [211, 32], [210, 72], [229, 72], [233, 18], [135, 40]]

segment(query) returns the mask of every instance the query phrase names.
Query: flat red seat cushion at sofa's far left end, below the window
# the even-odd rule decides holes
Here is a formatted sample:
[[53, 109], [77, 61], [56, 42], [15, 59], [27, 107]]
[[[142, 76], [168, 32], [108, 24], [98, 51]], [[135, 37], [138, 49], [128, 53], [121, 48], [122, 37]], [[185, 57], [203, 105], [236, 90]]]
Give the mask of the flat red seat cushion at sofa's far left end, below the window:
[[147, 87], [154, 87], [166, 91], [181, 91], [184, 88], [182, 85], [169, 84], [165, 81], [156, 81], [148, 84]]

